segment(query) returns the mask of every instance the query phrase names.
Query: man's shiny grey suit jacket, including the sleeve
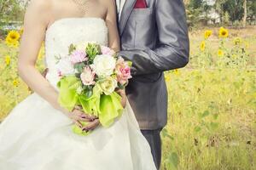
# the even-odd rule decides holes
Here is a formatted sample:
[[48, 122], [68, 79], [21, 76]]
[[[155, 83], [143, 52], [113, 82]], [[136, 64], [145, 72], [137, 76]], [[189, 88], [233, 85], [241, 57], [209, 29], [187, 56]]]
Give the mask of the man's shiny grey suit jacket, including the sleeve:
[[119, 20], [119, 55], [133, 63], [125, 91], [141, 129], [157, 129], [167, 122], [163, 71], [189, 62], [186, 14], [182, 0], [147, 0], [148, 8], [135, 3], [126, 0]]

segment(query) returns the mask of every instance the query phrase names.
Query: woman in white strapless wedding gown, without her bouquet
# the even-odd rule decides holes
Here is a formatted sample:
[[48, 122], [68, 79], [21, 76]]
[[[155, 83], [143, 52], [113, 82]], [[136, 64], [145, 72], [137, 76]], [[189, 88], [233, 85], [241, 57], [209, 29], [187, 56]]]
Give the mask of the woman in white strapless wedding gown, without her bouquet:
[[[140, 132], [124, 92], [123, 115], [111, 127], [96, 127], [88, 136], [71, 126], [96, 117], [57, 102], [55, 56], [68, 54], [71, 43], [97, 42], [119, 51], [113, 0], [34, 0], [27, 8], [20, 44], [20, 77], [35, 92], [0, 125], [0, 169], [4, 170], [155, 170], [150, 147]], [[35, 68], [45, 41], [44, 78]], [[90, 127], [82, 127], [88, 130]]]

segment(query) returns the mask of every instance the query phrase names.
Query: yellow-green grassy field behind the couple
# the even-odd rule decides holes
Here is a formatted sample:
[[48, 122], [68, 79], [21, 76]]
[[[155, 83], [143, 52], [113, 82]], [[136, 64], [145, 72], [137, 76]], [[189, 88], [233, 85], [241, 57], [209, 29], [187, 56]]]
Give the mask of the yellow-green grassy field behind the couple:
[[[226, 61], [217, 56], [218, 28], [211, 28], [207, 40], [213, 64], [198, 63], [207, 59], [199, 49], [204, 30], [189, 33], [189, 65], [166, 72], [169, 108], [168, 124], [162, 132], [161, 169], [256, 169], [256, 28], [230, 29], [225, 48], [233, 48], [235, 37], [241, 37], [247, 46], [242, 54], [248, 57], [247, 65], [235, 67], [215, 64]], [[0, 120], [30, 94], [16, 73], [16, 51], [0, 42]], [[8, 54], [11, 61], [7, 66], [4, 59]], [[44, 70], [42, 58], [38, 68]]]

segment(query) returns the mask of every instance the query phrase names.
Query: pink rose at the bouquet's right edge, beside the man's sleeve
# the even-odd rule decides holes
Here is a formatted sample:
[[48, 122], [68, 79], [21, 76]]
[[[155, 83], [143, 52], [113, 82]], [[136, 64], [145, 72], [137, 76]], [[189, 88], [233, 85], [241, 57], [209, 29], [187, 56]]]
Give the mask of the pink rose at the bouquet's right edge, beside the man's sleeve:
[[131, 78], [131, 68], [123, 58], [119, 58], [117, 60], [115, 70], [117, 73], [117, 80], [121, 85], [124, 85], [126, 82], [128, 82], [128, 79]]

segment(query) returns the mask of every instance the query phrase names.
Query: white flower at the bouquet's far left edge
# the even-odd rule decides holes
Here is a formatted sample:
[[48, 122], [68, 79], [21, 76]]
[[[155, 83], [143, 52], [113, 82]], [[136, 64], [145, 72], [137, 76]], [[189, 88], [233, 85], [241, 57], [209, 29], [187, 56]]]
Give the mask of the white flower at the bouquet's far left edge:
[[75, 70], [73, 68], [73, 64], [69, 57], [61, 58], [60, 61], [56, 65], [57, 71], [60, 72], [62, 76], [74, 75]]

